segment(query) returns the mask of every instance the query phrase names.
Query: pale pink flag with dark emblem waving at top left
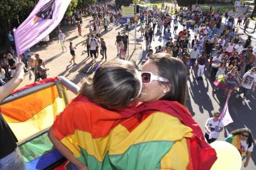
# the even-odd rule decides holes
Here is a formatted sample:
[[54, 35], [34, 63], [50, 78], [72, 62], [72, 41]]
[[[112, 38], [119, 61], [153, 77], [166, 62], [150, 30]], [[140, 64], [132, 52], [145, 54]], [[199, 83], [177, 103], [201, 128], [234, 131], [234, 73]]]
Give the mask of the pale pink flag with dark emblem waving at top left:
[[61, 22], [71, 0], [40, 0], [32, 13], [15, 30], [15, 45], [20, 55], [49, 35]]

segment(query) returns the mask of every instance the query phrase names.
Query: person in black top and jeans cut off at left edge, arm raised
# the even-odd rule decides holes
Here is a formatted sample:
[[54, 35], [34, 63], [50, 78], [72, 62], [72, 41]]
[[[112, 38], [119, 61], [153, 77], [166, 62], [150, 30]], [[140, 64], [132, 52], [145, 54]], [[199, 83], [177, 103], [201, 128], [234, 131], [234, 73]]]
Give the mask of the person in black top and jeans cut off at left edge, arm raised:
[[[0, 87], [0, 102], [15, 90], [24, 79], [24, 64], [16, 66], [13, 79]], [[17, 148], [17, 139], [0, 113], [0, 169], [25, 170], [23, 157]]]

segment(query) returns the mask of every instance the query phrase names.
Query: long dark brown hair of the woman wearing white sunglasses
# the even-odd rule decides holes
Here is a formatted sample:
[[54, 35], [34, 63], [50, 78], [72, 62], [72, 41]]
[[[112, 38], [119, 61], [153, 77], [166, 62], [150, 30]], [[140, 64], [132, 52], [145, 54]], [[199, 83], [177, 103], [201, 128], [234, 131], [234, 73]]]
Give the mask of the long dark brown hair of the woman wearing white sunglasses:
[[160, 82], [170, 87], [169, 93], [161, 99], [178, 101], [184, 105], [187, 96], [187, 71], [182, 60], [176, 59], [169, 54], [154, 54], [151, 58], [158, 67], [158, 74], [165, 77], [169, 82]]

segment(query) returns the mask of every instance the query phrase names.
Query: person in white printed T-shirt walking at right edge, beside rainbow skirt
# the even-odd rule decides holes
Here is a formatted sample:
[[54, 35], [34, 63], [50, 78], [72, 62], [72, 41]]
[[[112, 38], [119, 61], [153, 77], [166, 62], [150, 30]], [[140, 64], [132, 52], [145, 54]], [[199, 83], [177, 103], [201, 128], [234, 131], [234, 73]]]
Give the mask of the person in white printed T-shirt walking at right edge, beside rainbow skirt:
[[243, 101], [242, 104], [245, 105], [245, 99], [250, 94], [250, 91], [254, 93], [256, 85], [256, 67], [252, 67], [250, 71], [246, 72], [241, 79], [239, 92], [236, 94], [236, 98], [239, 98], [240, 94], [243, 93]]

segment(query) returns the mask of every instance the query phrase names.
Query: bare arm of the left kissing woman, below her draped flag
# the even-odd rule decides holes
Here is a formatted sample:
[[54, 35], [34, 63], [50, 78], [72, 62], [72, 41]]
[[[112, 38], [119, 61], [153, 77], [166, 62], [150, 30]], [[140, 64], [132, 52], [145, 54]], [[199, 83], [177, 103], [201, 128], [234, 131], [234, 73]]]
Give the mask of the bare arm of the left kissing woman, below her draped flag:
[[66, 157], [66, 159], [72, 162], [79, 170], [88, 170], [88, 167], [78, 161], [78, 159], [73, 156], [73, 153], [54, 136], [52, 128], [50, 128], [48, 136], [52, 144], [54, 144], [54, 147], [61, 152], [62, 156]]

